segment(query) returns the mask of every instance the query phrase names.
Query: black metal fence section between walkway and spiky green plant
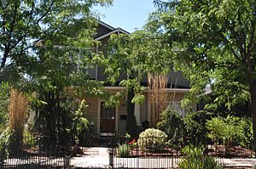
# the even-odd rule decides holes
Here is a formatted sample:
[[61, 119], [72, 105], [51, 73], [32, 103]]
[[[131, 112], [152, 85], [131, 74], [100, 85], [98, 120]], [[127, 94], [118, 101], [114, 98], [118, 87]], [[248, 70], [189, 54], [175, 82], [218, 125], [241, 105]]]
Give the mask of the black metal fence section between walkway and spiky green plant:
[[161, 139], [119, 137], [114, 141], [114, 168], [176, 168], [180, 161], [180, 149]]

